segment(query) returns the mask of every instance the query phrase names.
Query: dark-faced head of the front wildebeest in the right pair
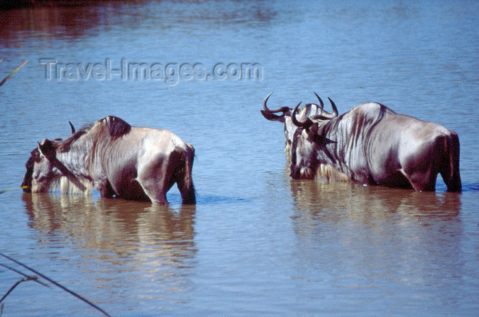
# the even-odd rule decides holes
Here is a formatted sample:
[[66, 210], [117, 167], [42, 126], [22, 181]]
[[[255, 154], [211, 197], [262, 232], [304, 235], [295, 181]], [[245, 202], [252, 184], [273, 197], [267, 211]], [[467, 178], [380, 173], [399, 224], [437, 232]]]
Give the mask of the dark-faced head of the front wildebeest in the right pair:
[[[330, 116], [326, 118], [323, 115], [315, 115], [300, 122], [296, 118], [298, 106], [292, 111], [291, 120], [294, 126], [296, 126], [296, 133], [291, 148], [292, 178], [314, 178], [320, 165], [317, 157], [318, 151], [324, 150], [328, 143], [334, 143], [334, 141], [326, 138], [322, 132], [324, 130], [322, 126], [337, 117], [335, 103], [331, 98], [328, 99], [333, 107], [331, 118]], [[323, 152], [325, 152], [326, 156], [328, 155], [327, 151]]]

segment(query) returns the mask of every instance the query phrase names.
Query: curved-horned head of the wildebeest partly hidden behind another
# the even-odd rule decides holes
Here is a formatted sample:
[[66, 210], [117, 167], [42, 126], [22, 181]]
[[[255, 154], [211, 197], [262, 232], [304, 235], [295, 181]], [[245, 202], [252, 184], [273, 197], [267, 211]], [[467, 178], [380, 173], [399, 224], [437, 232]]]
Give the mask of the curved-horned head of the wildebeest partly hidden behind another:
[[[276, 110], [270, 110], [266, 106], [266, 102], [268, 102], [268, 98], [270, 98], [272, 93], [270, 93], [265, 100], [263, 101], [263, 110], [261, 113], [263, 114], [264, 118], [271, 120], [271, 121], [279, 121], [283, 122], [284, 133], [285, 133], [285, 152], [288, 156], [290, 156], [292, 150], [292, 144], [294, 143], [294, 139], [296, 135], [298, 135], [299, 130], [304, 130], [308, 125], [311, 125], [313, 122], [311, 120], [331, 120], [332, 118], [337, 117], [337, 108], [334, 102], [330, 100], [331, 106], [333, 107], [333, 113], [328, 113], [324, 111], [324, 103], [321, 100], [318, 94], [314, 93], [315, 96], [318, 98], [320, 105], [316, 105], [314, 103], [309, 103], [305, 105], [305, 107], [299, 107], [300, 103], [296, 106], [296, 111], [289, 107], [281, 107]], [[299, 112], [299, 113], [298, 113]], [[281, 115], [276, 115], [275, 113], [282, 113]], [[298, 115], [296, 115], [298, 113]], [[299, 120], [304, 120], [304, 122], [300, 123]], [[295, 123], [296, 122], [296, 123]]]

